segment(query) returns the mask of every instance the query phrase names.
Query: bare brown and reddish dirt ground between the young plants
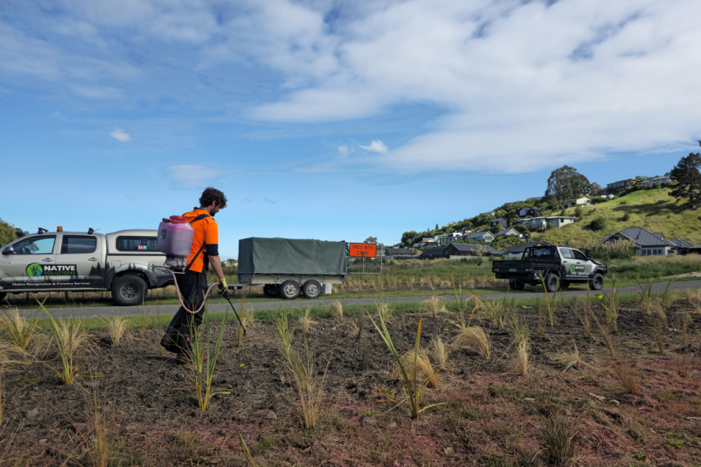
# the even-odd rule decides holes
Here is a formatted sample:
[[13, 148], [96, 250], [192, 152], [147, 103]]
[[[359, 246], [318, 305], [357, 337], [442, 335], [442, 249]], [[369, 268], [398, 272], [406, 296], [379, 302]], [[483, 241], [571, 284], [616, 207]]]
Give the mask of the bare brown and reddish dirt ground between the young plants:
[[[215, 396], [206, 412], [193, 400], [187, 368], [160, 351], [161, 330], [132, 331], [117, 347], [109, 346], [107, 333], [93, 332], [93, 349], [79, 360], [78, 384], [61, 384], [47, 366], [55, 365], [50, 353], [44, 363], [6, 373], [0, 465], [94, 465], [88, 454], [95, 393], [108, 421], [111, 466], [243, 466], [236, 460], [243, 458], [239, 433], [257, 466], [545, 466], [553, 459], [543, 428], [559, 415], [574, 433], [571, 465], [701, 465], [701, 314], [690, 304], [679, 300], [667, 308], [665, 354], [639, 307], [624, 305], [612, 339], [618, 357], [634, 368], [637, 396], [622, 389], [600, 337], [587, 337], [568, 307], [558, 307], [554, 327], [542, 337], [536, 309], [518, 311], [529, 323], [529, 374], [512, 368], [508, 326], [498, 329], [481, 314], [473, 323], [489, 330], [491, 358], [451, 353], [438, 388], [427, 389], [424, 400], [442, 405], [414, 422], [407, 405], [395, 407], [385, 395], [404, 397], [372, 323], [358, 341], [351, 331], [356, 317], [318, 319], [308, 343], [318, 371], [330, 363], [322, 419], [313, 430], [301, 424], [272, 321], [258, 321], [238, 348], [236, 325], [227, 323], [214, 386], [231, 394]], [[692, 322], [683, 344], [687, 311]], [[437, 333], [448, 341], [456, 335], [448, 317], [423, 316], [423, 347]], [[417, 323], [418, 315], [390, 318], [397, 349], [413, 347]], [[293, 348], [301, 349], [301, 329], [294, 319], [290, 326]], [[551, 358], [573, 351], [573, 342], [584, 365], [563, 372]], [[690, 358], [687, 377], [674, 363], [683, 355]]]

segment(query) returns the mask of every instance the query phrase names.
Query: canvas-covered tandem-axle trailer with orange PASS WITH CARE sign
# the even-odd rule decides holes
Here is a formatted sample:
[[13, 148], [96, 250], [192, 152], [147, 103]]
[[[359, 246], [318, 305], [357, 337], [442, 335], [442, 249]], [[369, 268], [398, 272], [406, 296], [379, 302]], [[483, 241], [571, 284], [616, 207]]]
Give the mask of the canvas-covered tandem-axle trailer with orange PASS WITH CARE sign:
[[238, 241], [238, 284], [263, 286], [267, 297], [317, 298], [325, 284], [348, 274], [381, 274], [382, 257], [367, 243], [250, 237]]

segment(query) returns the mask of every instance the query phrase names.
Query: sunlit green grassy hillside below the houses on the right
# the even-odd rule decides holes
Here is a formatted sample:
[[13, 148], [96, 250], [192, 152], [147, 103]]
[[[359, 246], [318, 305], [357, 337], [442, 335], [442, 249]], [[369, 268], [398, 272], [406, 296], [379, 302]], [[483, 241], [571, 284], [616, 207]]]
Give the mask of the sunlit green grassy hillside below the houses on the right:
[[[601, 241], [608, 233], [619, 232], [628, 227], [644, 227], [651, 232], [662, 232], [665, 239], [679, 237], [690, 244], [701, 244], [701, 209], [686, 209], [682, 202], [669, 196], [669, 188], [661, 190], [640, 190], [615, 200], [592, 206], [582, 206], [582, 217], [578, 222], [560, 229], [534, 233], [533, 238], [543, 239], [554, 244], [573, 246], [590, 245]], [[568, 216], [574, 216], [575, 208], [566, 209]], [[556, 216], [557, 212], [546, 214]], [[628, 214], [627, 221], [623, 217]], [[606, 227], [591, 230], [590, 223], [595, 218], [603, 218]]]

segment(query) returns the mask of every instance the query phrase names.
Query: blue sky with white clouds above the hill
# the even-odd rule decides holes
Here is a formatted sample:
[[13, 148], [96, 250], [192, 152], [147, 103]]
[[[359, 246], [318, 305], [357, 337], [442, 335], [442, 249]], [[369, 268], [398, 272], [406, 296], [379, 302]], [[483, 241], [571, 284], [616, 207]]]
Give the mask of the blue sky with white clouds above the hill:
[[206, 186], [250, 236], [398, 242], [573, 165], [664, 174], [701, 138], [701, 2], [0, 3], [0, 217], [156, 228]]

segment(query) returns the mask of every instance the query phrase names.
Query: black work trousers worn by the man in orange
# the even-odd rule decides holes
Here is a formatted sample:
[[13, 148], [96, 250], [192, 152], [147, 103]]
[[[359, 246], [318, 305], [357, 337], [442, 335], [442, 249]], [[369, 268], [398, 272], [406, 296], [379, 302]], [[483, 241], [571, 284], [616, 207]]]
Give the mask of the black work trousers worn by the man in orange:
[[[207, 272], [185, 271], [184, 274], [177, 274], [175, 280], [185, 306], [191, 310], [198, 309], [207, 292]], [[180, 307], [170, 320], [163, 339], [171, 345], [177, 345], [178, 349], [189, 349], [189, 338], [202, 323], [204, 313], [204, 307], [197, 313], [190, 313], [184, 307]]]

